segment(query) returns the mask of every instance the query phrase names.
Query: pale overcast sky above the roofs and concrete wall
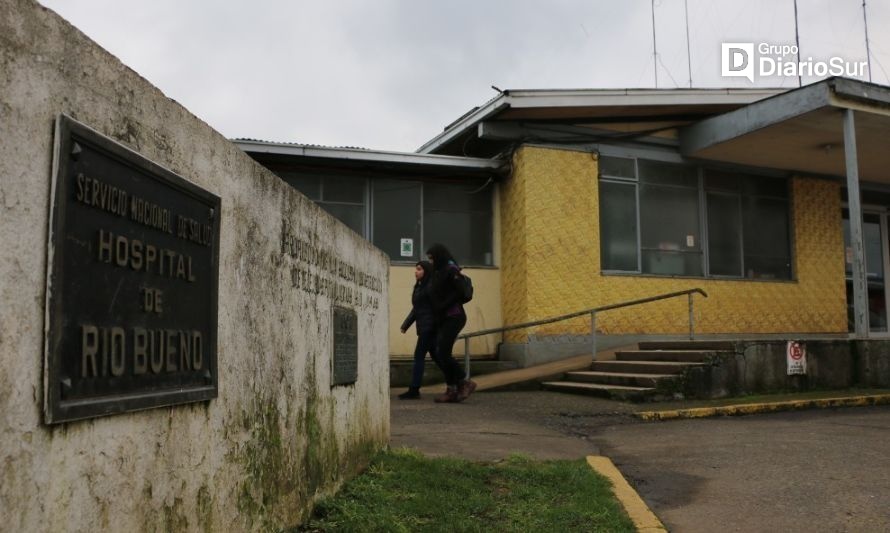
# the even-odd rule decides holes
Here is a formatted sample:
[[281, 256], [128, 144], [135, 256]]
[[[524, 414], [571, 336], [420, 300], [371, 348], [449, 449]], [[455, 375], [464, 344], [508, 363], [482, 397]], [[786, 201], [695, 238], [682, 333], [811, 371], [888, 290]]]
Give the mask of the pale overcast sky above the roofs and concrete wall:
[[[750, 87], [721, 77], [720, 43], [795, 42], [793, 0], [655, 0], [657, 55], [651, 0], [40, 2], [227, 137], [380, 150], [416, 150], [491, 85]], [[866, 14], [890, 84], [890, 0]], [[798, 0], [803, 58], [864, 61], [865, 27], [862, 0]]]

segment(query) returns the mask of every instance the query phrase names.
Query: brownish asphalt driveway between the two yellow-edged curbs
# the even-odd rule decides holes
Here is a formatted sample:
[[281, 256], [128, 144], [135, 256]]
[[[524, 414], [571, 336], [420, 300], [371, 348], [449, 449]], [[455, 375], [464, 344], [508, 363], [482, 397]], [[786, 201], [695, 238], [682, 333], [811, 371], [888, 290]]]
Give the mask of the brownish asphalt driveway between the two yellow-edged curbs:
[[672, 531], [890, 531], [890, 408], [591, 429]]

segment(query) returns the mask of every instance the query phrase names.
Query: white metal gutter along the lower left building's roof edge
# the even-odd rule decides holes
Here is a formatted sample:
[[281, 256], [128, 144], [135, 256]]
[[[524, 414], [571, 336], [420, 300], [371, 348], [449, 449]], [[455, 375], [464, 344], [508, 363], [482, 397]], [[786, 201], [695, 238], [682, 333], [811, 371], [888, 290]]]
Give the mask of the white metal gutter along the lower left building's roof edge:
[[234, 140], [232, 142], [241, 150], [250, 153], [290, 155], [355, 162], [427, 165], [438, 168], [473, 170], [497, 170], [505, 164], [504, 161], [477, 157], [415, 154], [411, 152], [389, 152], [381, 150], [363, 150], [358, 148], [326, 148], [320, 146], [249, 140]]

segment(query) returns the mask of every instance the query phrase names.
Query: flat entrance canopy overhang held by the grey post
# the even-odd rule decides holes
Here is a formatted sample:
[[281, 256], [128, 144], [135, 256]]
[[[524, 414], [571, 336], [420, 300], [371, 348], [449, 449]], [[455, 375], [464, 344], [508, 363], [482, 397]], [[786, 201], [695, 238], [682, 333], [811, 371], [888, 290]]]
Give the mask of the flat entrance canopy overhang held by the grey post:
[[680, 130], [686, 157], [844, 176], [843, 114], [854, 110], [859, 177], [890, 182], [890, 88], [829, 78]]

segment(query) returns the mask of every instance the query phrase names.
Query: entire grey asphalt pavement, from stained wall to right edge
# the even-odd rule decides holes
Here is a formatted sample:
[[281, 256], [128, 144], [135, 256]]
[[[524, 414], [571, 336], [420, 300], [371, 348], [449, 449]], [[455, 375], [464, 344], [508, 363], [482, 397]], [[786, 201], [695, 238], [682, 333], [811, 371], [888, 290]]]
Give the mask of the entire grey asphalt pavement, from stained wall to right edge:
[[432, 398], [393, 398], [393, 446], [605, 455], [676, 532], [890, 531], [890, 407], [642, 422], [632, 404], [543, 391]]

